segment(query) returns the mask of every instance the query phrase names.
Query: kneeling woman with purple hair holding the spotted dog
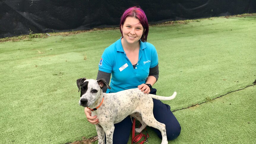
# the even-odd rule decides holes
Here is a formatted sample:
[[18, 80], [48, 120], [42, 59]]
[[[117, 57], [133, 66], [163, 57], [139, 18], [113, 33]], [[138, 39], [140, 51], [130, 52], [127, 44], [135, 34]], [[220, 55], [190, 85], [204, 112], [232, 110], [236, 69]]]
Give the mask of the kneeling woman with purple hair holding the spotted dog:
[[[148, 20], [143, 10], [139, 7], [127, 9], [121, 17], [120, 31], [121, 39], [105, 49], [99, 62], [97, 79], [104, 78], [109, 83], [112, 74], [111, 89], [105, 87], [103, 92], [113, 93], [138, 87], [144, 93], [156, 94], [157, 90], [152, 86], [158, 79], [158, 56], [155, 47], [146, 42]], [[153, 102], [154, 117], [166, 125], [167, 139], [175, 139], [180, 134], [181, 126], [170, 111], [170, 106], [156, 99]], [[85, 108], [85, 114], [91, 124], [99, 123], [97, 116], [91, 116], [91, 110]], [[132, 129], [130, 117], [114, 126], [113, 143], [127, 144]], [[162, 138], [158, 129], [154, 131]]]

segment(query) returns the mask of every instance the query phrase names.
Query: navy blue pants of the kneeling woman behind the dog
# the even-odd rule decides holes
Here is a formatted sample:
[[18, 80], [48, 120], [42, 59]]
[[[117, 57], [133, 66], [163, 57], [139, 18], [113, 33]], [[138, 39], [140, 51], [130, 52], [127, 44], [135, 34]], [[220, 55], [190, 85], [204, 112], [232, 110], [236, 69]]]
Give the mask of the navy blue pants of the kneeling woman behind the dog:
[[[157, 90], [153, 88], [150, 94], [156, 94]], [[170, 106], [162, 103], [160, 100], [153, 99], [154, 107], [153, 114], [157, 121], [165, 124], [168, 140], [176, 139], [180, 132], [181, 126], [176, 117], [170, 110]], [[115, 130], [113, 134], [113, 144], [127, 144], [132, 129], [132, 120], [130, 116], [126, 117], [120, 123], [114, 124]], [[162, 138], [161, 132], [158, 129], [151, 127]]]

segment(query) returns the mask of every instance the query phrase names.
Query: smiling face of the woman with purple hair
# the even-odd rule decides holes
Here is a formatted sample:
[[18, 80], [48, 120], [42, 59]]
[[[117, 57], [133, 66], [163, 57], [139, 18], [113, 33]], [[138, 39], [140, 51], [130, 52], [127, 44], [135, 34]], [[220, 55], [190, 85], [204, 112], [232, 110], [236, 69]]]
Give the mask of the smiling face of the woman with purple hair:
[[127, 17], [124, 25], [121, 26], [125, 42], [134, 44], [138, 42], [143, 34], [143, 26], [140, 20], [134, 17]]

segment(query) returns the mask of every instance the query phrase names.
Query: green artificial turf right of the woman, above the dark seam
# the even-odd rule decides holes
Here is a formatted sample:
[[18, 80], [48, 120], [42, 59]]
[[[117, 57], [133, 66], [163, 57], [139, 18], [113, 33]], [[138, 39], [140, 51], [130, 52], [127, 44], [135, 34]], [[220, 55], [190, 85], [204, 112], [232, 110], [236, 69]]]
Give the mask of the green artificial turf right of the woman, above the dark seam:
[[[256, 19], [220, 18], [151, 29], [159, 55], [160, 95], [177, 91], [173, 110], [252, 85]], [[151, 32], [152, 32], [151, 31]]]

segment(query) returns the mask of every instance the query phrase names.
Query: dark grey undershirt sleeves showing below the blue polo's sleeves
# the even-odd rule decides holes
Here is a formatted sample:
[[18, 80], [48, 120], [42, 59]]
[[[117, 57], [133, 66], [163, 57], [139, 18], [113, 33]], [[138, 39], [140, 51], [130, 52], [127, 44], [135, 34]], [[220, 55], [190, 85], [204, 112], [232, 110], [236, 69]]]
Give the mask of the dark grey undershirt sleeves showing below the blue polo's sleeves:
[[[99, 70], [98, 71], [98, 75], [97, 75], [97, 80], [103, 78], [103, 79], [106, 80], [107, 83], [109, 83], [110, 76], [111, 76], [111, 73], [102, 72], [102, 71]], [[159, 67], [158, 67], [158, 64], [157, 64], [157, 66], [149, 69], [148, 76], [154, 76], [158, 80], [158, 77], [159, 77]], [[107, 87], [105, 86], [104, 88], [102, 88], [102, 91], [105, 93], [107, 91]]]

